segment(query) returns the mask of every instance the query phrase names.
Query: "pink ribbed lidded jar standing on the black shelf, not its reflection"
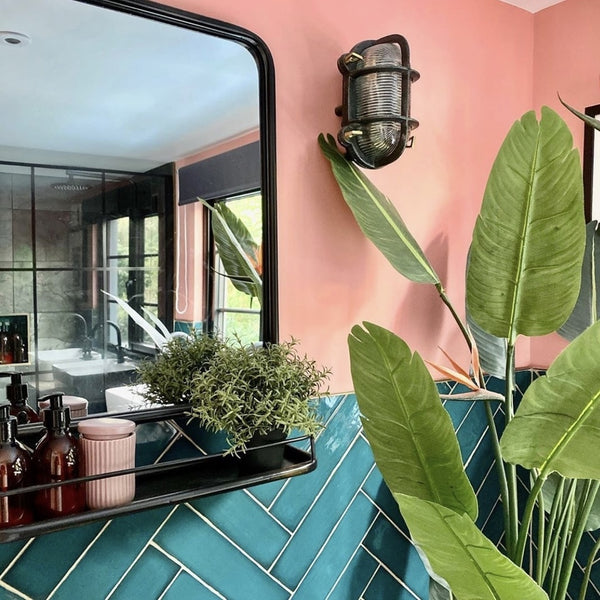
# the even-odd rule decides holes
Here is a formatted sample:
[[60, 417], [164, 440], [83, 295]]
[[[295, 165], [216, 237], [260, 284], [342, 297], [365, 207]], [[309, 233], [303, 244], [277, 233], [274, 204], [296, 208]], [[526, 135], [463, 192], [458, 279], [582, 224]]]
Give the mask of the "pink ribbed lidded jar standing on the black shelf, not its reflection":
[[[83, 474], [97, 475], [135, 467], [135, 423], [127, 419], [101, 417], [77, 425], [83, 454]], [[135, 474], [88, 481], [88, 508], [109, 508], [131, 502], [135, 496]]]

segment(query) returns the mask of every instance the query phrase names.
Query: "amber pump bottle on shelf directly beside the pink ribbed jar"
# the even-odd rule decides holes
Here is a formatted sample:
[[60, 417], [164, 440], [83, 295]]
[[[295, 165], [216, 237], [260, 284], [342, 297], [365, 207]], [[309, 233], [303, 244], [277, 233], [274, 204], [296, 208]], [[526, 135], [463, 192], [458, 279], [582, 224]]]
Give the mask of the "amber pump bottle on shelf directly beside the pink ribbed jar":
[[[33, 451], [33, 471], [38, 484], [56, 483], [79, 477], [77, 439], [69, 430], [70, 410], [63, 406], [61, 392], [40, 398], [49, 408], [42, 411], [46, 432]], [[85, 487], [71, 483], [42, 489], [35, 495], [35, 512], [48, 519], [80, 512], [85, 508]]]

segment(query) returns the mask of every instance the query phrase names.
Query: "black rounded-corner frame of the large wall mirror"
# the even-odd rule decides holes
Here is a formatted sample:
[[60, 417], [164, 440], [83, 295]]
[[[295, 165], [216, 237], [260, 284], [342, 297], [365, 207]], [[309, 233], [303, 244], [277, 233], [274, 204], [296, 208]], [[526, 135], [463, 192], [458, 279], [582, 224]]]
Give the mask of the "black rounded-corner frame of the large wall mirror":
[[[242, 44], [252, 54], [259, 85], [259, 129], [263, 220], [262, 341], [279, 341], [277, 279], [277, 181], [275, 147], [275, 70], [271, 53], [256, 34], [237, 25], [149, 0], [73, 0], [183, 27]], [[174, 207], [174, 210], [176, 208]]]

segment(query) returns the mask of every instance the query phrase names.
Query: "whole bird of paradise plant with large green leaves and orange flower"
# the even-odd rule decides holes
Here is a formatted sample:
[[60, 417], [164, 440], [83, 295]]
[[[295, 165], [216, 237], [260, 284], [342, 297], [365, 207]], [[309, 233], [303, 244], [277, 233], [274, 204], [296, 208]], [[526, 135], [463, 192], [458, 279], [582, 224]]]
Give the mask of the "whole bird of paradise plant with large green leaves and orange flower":
[[[576, 303], [589, 300], [578, 300], [586, 230], [579, 155], [566, 124], [547, 107], [539, 121], [531, 111], [502, 144], [470, 246], [466, 322], [395, 206], [331, 136], [319, 143], [365, 235], [402, 275], [436, 287], [474, 352], [473, 372], [453, 364], [452, 375], [471, 383], [468, 394], [487, 417], [502, 549], [475, 525], [477, 498], [424, 361], [373, 323], [354, 326], [348, 338], [364, 431], [432, 577], [430, 598], [564, 600], [582, 537], [600, 526], [600, 462], [590, 451], [600, 444], [600, 323], [559, 354], [518, 407], [514, 351], [519, 336], [556, 331]], [[595, 293], [593, 284], [589, 289]], [[483, 371], [504, 379], [500, 398], [485, 390]], [[502, 428], [494, 420], [498, 401]], [[525, 500], [517, 493], [518, 466], [529, 475]], [[589, 554], [579, 600], [587, 598], [599, 548]]]

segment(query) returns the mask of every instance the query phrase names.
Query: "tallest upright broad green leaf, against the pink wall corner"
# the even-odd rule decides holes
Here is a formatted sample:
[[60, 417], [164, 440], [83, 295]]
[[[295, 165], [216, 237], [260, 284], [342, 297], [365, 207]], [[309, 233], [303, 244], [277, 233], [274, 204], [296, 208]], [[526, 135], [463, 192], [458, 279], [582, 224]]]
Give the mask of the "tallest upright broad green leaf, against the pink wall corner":
[[585, 241], [579, 155], [551, 109], [526, 113], [492, 167], [473, 232], [467, 303], [509, 341], [560, 327], [579, 291]]

